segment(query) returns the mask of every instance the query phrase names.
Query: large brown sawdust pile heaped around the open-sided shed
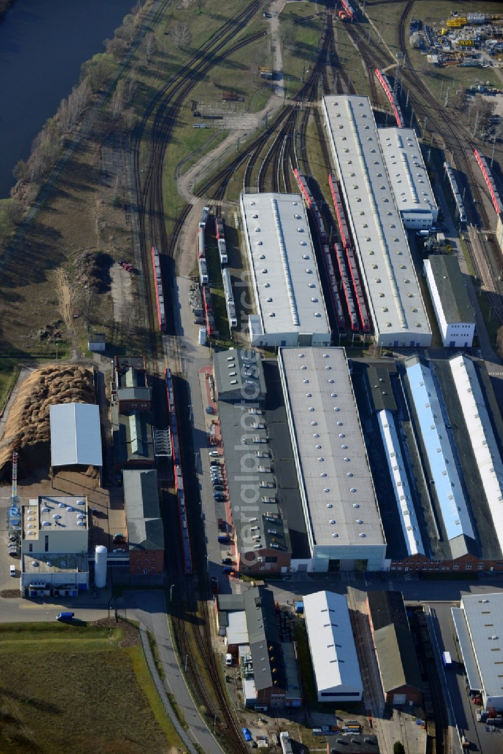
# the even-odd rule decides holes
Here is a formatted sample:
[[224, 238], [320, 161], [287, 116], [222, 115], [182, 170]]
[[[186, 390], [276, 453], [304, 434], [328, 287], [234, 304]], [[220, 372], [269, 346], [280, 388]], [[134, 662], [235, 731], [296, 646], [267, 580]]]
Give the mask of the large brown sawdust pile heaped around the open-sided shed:
[[13, 450], [19, 454], [20, 477], [29, 474], [33, 464], [48, 463], [49, 409], [54, 403], [94, 403], [90, 369], [75, 364], [44, 366], [23, 382], [9, 411], [0, 443], [0, 479], [11, 474]]

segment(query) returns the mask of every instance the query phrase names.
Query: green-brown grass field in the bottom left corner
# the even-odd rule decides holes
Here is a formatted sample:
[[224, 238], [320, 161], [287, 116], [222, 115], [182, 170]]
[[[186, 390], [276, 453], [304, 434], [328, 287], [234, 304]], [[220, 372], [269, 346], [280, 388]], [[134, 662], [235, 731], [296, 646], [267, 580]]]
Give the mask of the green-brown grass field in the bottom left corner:
[[112, 754], [179, 746], [141, 645], [119, 648], [123, 636], [120, 628], [109, 636], [107, 627], [2, 625], [0, 751]]

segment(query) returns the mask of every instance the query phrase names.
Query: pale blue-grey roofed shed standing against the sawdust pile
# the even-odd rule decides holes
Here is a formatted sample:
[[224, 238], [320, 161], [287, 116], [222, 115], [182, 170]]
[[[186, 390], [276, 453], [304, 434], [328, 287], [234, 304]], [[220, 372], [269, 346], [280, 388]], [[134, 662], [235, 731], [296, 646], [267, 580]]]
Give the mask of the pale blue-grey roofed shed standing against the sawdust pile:
[[102, 466], [100, 406], [51, 406], [51, 466]]

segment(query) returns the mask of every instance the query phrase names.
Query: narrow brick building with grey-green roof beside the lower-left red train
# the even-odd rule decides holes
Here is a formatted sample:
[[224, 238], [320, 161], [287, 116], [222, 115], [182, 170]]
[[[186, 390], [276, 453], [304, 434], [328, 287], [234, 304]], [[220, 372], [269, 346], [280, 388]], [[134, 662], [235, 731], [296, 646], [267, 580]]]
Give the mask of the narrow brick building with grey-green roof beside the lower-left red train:
[[164, 571], [164, 526], [159, 507], [157, 471], [124, 470], [129, 571], [155, 575]]

